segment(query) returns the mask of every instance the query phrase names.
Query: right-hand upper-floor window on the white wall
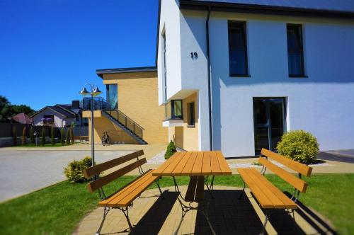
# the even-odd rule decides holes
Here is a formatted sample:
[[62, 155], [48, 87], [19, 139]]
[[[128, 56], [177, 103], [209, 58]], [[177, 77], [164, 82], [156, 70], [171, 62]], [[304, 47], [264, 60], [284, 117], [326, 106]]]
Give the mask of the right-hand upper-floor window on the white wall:
[[289, 76], [304, 76], [301, 25], [287, 24], [287, 64]]

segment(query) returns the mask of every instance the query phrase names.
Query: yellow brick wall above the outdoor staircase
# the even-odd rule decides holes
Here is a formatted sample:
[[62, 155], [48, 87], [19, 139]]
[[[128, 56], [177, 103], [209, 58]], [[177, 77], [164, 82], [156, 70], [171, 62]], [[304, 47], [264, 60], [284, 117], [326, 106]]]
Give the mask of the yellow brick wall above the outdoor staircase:
[[168, 130], [162, 127], [165, 109], [159, 107], [156, 72], [104, 74], [103, 84], [118, 84], [118, 109], [144, 128], [146, 142], [168, 142]]

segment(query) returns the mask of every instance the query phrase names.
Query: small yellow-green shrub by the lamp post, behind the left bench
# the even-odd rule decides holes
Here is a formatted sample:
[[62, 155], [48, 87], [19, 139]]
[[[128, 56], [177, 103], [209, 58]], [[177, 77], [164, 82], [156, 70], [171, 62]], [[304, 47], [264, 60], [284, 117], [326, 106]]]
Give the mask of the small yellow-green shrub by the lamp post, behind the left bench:
[[79, 183], [86, 180], [91, 180], [91, 178], [85, 178], [82, 171], [91, 166], [91, 157], [86, 156], [80, 161], [70, 162], [66, 168], [64, 168], [64, 174], [71, 183]]

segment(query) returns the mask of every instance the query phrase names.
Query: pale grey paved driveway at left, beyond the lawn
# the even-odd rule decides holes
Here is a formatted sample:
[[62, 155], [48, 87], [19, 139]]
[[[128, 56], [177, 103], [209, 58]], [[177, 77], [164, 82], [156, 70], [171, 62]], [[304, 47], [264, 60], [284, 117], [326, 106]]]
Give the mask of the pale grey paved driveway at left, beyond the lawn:
[[[95, 151], [97, 163], [130, 154], [130, 150]], [[0, 150], [0, 202], [65, 180], [64, 167], [90, 156], [86, 150]]]

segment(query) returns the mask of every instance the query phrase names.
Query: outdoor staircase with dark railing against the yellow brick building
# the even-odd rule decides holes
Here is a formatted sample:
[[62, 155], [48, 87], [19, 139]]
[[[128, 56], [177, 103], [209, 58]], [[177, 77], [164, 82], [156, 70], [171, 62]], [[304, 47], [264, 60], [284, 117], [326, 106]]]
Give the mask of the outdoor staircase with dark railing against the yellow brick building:
[[[114, 114], [117, 114], [117, 117], [115, 117]], [[147, 142], [142, 138], [142, 132], [144, 128], [139, 126], [136, 122], [132, 121], [129, 117], [127, 117], [122, 112], [120, 112], [120, 110], [115, 110], [115, 111], [102, 110], [102, 115], [107, 117], [108, 120], [110, 120], [115, 125], [120, 127], [120, 129], [124, 130], [139, 144], [147, 144]]]

